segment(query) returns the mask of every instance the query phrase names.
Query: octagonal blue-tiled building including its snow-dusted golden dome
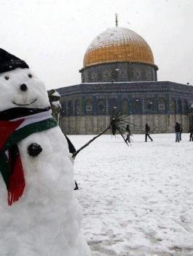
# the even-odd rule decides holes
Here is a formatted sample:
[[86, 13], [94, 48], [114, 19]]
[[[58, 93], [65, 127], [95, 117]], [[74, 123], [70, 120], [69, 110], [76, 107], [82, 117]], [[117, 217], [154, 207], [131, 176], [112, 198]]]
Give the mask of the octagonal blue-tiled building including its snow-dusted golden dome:
[[[172, 49], [171, 49], [172, 50]], [[57, 89], [61, 95], [60, 127], [66, 134], [95, 134], [122, 111], [135, 124], [133, 133], [173, 132], [176, 121], [189, 129], [193, 87], [157, 81], [158, 67], [147, 42], [134, 31], [114, 27], [91, 42], [79, 70], [82, 83]], [[181, 71], [181, 67], [176, 72]]]

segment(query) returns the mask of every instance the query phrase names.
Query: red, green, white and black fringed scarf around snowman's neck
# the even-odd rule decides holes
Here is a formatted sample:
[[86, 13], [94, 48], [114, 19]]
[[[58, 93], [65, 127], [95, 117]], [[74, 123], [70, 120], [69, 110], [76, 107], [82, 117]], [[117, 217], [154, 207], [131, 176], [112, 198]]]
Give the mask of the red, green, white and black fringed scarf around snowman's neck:
[[50, 108], [11, 108], [0, 112], [0, 172], [7, 187], [9, 206], [19, 200], [25, 188], [17, 143], [35, 132], [56, 126]]

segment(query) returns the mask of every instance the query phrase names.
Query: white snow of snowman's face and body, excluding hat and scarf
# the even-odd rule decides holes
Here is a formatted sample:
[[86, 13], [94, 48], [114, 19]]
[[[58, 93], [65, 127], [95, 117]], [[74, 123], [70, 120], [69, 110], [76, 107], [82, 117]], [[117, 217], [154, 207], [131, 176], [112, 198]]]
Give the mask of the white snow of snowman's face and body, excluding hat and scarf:
[[[30, 69], [17, 68], [0, 75], [0, 111], [23, 105], [47, 108], [49, 101], [43, 83], [34, 75], [29, 78], [29, 74]], [[26, 91], [20, 90], [23, 83]], [[28, 154], [31, 143], [43, 149], [36, 157]], [[80, 231], [82, 211], [74, 197], [71, 154], [60, 128], [33, 133], [17, 146], [25, 190], [19, 200], [8, 206], [7, 189], [0, 176], [0, 255], [90, 255]]]

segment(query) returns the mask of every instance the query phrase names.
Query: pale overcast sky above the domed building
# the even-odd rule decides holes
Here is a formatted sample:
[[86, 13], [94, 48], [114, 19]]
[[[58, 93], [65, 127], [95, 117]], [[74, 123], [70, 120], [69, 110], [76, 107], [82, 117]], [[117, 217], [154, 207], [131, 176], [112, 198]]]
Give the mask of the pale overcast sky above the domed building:
[[92, 39], [115, 26], [148, 42], [158, 80], [193, 85], [193, 0], [0, 0], [0, 48], [24, 59], [47, 89], [80, 83]]

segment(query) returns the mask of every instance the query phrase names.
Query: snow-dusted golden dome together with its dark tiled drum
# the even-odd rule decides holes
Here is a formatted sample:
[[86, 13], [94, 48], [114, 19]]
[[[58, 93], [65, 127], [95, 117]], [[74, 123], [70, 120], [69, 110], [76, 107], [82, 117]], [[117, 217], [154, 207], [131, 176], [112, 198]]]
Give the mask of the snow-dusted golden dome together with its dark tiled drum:
[[106, 29], [84, 54], [82, 83], [157, 80], [157, 65], [148, 43], [130, 29]]

